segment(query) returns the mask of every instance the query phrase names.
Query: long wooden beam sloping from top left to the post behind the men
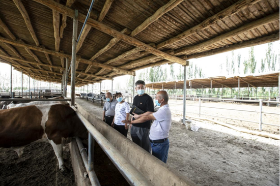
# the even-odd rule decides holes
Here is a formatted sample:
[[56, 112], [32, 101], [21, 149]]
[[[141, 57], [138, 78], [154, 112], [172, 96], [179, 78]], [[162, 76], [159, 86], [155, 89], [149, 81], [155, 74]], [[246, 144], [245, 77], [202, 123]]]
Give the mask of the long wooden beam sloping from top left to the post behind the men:
[[[56, 2], [53, 2], [51, 0], [33, 0], [35, 2], [38, 2], [42, 5], [45, 5], [47, 7], [49, 7], [50, 9], [52, 10], [55, 10], [55, 11], [58, 11], [60, 12], [61, 14], [67, 14], [67, 16], [69, 17], [74, 17], [74, 10], [70, 9], [70, 8], [67, 8], [59, 3], [56, 3]], [[83, 15], [81, 13], [79, 13], [78, 15], [78, 20], [80, 22], [84, 22], [86, 19], [86, 15]], [[92, 18], [89, 18], [88, 21], [87, 21], [87, 24], [91, 25], [92, 27], [98, 29], [99, 31], [105, 33], [105, 34], [108, 34], [110, 36], [113, 36], [115, 38], [118, 38], [118, 39], [121, 39], [123, 40], [124, 42], [128, 43], [128, 44], [131, 44], [131, 45], [134, 45], [136, 47], [139, 47], [139, 48], [143, 48], [144, 50], [146, 51], [149, 51], [150, 53], [154, 54], [154, 55], [157, 55], [159, 57], [162, 57], [166, 60], [170, 60], [172, 62], [176, 62], [176, 63], [179, 63], [181, 65], [186, 65], [186, 60], [184, 59], [181, 59], [179, 57], [176, 57], [176, 56], [172, 56], [170, 54], [166, 54], [165, 52], [162, 52], [158, 49], [155, 49], [151, 46], [149, 46], [148, 44], [145, 44], [135, 38], [132, 38], [130, 36], [127, 36], [125, 34], [122, 34], [121, 32], [118, 32], [117, 30], [103, 24], [103, 23], [100, 23]]]

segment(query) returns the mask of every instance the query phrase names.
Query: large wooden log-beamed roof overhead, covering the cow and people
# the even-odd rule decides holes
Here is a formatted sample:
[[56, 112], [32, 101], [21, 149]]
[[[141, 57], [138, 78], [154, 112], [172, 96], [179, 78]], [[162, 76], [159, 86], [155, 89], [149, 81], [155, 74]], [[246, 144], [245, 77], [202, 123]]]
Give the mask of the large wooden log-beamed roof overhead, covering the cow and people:
[[[60, 82], [89, 0], [0, 1], [0, 60]], [[96, 0], [77, 45], [77, 85], [279, 40], [275, 0]], [[69, 80], [70, 82], [70, 76]]]

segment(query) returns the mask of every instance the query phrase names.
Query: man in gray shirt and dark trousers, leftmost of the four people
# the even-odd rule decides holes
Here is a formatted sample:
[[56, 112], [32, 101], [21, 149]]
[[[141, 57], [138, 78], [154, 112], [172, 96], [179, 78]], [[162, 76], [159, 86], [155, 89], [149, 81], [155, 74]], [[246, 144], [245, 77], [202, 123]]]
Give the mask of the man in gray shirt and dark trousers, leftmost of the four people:
[[113, 123], [113, 119], [115, 116], [115, 107], [118, 101], [113, 98], [111, 92], [107, 92], [105, 95], [106, 102], [103, 107], [103, 121], [105, 121], [109, 126]]

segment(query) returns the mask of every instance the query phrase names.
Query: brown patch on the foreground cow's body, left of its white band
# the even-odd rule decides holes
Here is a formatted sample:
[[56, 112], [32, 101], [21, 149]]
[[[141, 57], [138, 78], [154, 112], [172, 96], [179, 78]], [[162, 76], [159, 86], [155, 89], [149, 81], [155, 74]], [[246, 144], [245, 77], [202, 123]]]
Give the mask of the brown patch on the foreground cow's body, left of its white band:
[[42, 138], [42, 112], [36, 106], [0, 111], [0, 147], [20, 147]]

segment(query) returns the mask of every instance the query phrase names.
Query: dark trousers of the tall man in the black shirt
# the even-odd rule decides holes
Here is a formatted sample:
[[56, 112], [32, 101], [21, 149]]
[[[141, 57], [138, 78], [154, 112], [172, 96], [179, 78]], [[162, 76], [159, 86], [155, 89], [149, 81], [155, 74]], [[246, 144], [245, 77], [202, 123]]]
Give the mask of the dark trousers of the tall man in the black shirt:
[[150, 129], [132, 126], [130, 130], [131, 139], [134, 143], [151, 153], [151, 144], [149, 139]]

